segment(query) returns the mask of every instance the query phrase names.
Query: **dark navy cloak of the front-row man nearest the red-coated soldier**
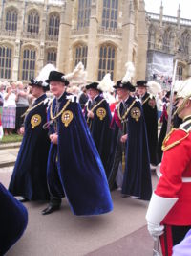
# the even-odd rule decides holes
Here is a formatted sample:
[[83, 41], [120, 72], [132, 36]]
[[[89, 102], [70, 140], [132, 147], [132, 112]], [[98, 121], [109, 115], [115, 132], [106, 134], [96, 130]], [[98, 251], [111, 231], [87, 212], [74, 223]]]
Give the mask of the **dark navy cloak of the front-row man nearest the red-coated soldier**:
[[[127, 104], [130, 106], [134, 100], [135, 98], [130, 96]], [[128, 138], [126, 142], [125, 172], [121, 192], [123, 195], [149, 200], [152, 194], [152, 183], [147, 134], [143, 111], [139, 101], [136, 101], [132, 109], [134, 107], [138, 107], [140, 117], [138, 121], [136, 121], [131, 115], [131, 110], [127, 115], [128, 122], [126, 133], [128, 134]], [[117, 145], [119, 128], [116, 122], [114, 123], [114, 128], [116, 131], [114, 144]], [[114, 146], [114, 148], [116, 147]], [[110, 176], [111, 175], [112, 174], [110, 174]]]

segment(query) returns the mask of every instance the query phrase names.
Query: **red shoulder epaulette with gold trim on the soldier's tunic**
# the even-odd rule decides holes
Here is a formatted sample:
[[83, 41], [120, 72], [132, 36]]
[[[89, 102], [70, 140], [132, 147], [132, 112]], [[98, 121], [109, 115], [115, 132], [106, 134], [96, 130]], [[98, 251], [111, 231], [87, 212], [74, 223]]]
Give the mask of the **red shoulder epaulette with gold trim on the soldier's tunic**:
[[[183, 131], [183, 132], [182, 132]], [[180, 144], [181, 141], [186, 139], [189, 136], [189, 132], [181, 129], [181, 128], [173, 128], [164, 138], [162, 143], [162, 151], [168, 151]]]

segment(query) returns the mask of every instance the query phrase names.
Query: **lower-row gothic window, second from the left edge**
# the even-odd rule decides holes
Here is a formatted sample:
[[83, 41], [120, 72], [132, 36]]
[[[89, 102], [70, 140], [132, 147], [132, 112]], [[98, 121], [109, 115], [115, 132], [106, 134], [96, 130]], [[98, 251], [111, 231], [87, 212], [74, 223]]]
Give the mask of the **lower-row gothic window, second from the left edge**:
[[34, 78], [35, 57], [36, 57], [35, 50], [25, 49], [23, 51], [22, 80], [30, 80]]

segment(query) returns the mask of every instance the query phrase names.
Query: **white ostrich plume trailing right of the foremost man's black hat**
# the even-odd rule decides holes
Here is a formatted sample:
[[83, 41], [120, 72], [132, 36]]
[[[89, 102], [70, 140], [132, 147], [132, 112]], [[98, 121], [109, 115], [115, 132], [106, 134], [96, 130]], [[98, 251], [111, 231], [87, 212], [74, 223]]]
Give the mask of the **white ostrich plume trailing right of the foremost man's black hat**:
[[84, 84], [87, 79], [87, 72], [84, 70], [84, 65], [82, 62], [79, 62], [72, 73], [69, 73], [64, 76], [64, 79], [70, 81], [72, 85], [74, 84]]

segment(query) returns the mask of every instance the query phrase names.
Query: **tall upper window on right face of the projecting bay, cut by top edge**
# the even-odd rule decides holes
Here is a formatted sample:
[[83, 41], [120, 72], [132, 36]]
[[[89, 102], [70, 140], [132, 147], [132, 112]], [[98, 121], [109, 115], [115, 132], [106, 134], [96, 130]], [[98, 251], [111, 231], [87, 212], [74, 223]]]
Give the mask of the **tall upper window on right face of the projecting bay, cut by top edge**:
[[103, 0], [102, 27], [117, 28], [118, 0]]

